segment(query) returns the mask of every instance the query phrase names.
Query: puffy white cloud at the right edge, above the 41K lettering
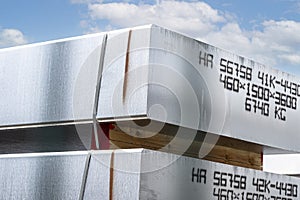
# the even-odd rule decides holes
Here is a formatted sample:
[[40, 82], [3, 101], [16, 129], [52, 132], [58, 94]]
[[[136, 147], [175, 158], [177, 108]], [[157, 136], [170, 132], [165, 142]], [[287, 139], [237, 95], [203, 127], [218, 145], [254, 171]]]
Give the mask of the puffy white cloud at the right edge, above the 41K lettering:
[[241, 30], [238, 24], [228, 23], [204, 39], [263, 64], [283, 68], [300, 64], [299, 32], [300, 23], [295, 21], [265, 21], [260, 31]]

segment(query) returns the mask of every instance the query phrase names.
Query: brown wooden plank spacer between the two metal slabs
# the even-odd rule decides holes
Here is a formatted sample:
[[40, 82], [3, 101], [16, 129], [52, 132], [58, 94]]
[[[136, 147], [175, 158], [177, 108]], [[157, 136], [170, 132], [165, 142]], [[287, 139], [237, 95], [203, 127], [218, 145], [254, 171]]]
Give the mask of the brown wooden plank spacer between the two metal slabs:
[[[128, 124], [115, 125], [109, 132], [110, 149], [147, 148], [199, 158], [200, 148], [207, 145], [204, 138], [211, 134], [181, 129], [180, 131], [187, 135], [185, 137], [178, 134], [178, 127], [169, 124], [165, 124], [159, 132], [144, 127], [147, 125], [140, 127], [131, 127]], [[217, 142], [211, 145], [211, 151], [201, 159], [262, 169], [261, 145], [224, 136], [219, 136]]]

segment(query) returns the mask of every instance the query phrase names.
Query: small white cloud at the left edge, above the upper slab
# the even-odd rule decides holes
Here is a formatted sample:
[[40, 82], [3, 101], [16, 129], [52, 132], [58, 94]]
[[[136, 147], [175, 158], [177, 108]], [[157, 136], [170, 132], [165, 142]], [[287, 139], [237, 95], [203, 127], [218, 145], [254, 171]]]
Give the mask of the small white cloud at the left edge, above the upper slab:
[[21, 45], [27, 42], [23, 33], [17, 29], [0, 30], [0, 47]]

